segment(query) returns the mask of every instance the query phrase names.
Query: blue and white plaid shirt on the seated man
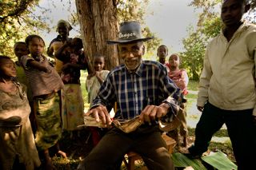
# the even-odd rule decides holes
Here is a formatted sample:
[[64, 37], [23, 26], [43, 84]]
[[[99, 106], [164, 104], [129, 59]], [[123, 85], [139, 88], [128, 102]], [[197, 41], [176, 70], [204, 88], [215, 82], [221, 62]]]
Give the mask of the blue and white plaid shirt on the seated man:
[[159, 62], [142, 61], [134, 73], [129, 73], [125, 65], [119, 65], [106, 77], [91, 108], [105, 105], [110, 110], [117, 102], [115, 118], [129, 120], [138, 116], [146, 105], [162, 102], [174, 105], [172, 97], [176, 90], [166, 67]]

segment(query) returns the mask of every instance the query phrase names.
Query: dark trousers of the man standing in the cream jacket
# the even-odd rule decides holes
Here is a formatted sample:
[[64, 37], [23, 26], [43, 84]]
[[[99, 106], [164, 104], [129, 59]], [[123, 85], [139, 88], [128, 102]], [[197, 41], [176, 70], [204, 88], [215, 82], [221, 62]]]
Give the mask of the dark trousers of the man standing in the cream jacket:
[[256, 126], [253, 124], [252, 113], [253, 109], [230, 111], [206, 103], [195, 129], [194, 146], [189, 148], [190, 153], [197, 155], [206, 152], [214, 132], [226, 124], [238, 169], [254, 169]]

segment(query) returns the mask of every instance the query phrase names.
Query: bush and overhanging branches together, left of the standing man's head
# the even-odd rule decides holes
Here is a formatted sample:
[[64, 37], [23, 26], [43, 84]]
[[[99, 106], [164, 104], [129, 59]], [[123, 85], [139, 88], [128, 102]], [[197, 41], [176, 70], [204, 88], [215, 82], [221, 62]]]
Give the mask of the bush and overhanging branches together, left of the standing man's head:
[[206, 45], [210, 39], [217, 36], [222, 28], [216, 8], [220, 7], [221, 0], [194, 0], [190, 6], [200, 9], [197, 29], [188, 28], [189, 37], [183, 38], [182, 43], [185, 51], [181, 53], [182, 67], [188, 71], [190, 80], [197, 81], [202, 71], [203, 57]]

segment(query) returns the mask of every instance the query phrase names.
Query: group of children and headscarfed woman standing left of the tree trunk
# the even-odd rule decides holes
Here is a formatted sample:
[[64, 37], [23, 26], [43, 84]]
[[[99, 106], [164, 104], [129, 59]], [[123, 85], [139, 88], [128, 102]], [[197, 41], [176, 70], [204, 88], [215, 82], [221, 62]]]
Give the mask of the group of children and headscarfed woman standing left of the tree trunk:
[[[61, 31], [66, 23], [58, 23], [59, 38], [68, 35]], [[18, 61], [0, 57], [0, 169], [54, 169], [49, 149], [66, 158], [58, 144], [62, 130], [83, 125], [79, 78], [80, 69], [89, 67], [82, 40], [66, 37], [62, 45], [51, 42], [48, 53], [63, 63], [60, 75], [44, 49], [44, 40], [32, 34], [15, 43]]]

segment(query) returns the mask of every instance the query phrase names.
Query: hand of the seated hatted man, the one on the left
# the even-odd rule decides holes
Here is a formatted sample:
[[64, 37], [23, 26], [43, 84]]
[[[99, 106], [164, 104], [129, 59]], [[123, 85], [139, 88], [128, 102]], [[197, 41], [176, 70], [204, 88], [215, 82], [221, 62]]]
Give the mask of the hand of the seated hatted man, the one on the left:
[[85, 114], [85, 117], [89, 117], [90, 115], [92, 115], [97, 122], [101, 120], [102, 125], [108, 126], [108, 125], [111, 125], [112, 123], [110, 118], [110, 113], [107, 111], [106, 107], [103, 105], [98, 105], [94, 109], [90, 109]]

